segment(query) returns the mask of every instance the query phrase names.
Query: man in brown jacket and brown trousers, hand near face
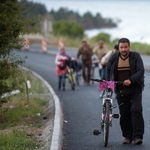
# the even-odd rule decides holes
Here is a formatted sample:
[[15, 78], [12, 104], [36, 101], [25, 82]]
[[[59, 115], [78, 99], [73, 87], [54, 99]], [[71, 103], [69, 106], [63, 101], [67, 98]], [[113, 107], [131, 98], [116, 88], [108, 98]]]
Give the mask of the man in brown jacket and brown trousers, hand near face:
[[[91, 68], [92, 68], [92, 60], [91, 57], [93, 55], [92, 48], [88, 46], [87, 41], [82, 42], [82, 47], [79, 48], [77, 53], [77, 61], [79, 60], [80, 55], [82, 55], [82, 74], [84, 79], [84, 84], [90, 85], [91, 78]], [[87, 68], [87, 75], [85, 73], [85, 69]]]

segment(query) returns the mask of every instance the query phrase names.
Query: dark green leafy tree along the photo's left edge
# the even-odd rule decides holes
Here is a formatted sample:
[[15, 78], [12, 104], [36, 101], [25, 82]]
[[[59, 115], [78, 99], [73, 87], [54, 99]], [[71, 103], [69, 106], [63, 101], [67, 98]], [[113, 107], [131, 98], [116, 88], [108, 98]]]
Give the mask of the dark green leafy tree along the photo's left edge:
[[[34, 26], [36, 20], [29, 20], [22, 15], [23, 7], [17, 0], [2, 0], [0, 5], [0, 108], [8, 98], [2, 98], [17, 88], [19, 65], [24, 62], [15, 51], [21, 51], [23, 40], [19, 38]], [[9, 81], [9, 82], [8, 82]], [[3, 115], [2, 115], [3, 122]]]

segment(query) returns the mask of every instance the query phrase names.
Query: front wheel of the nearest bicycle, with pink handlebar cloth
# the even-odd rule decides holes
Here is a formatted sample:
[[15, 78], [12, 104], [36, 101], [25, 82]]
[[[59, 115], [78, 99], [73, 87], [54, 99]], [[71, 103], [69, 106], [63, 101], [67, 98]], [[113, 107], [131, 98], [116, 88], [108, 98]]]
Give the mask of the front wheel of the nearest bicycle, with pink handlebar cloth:
[[108, 144], [109, 123], [110, 123], [109, 115], [110, 115], [109, 103], [106, 102], [105, 117], [104, 117], [104, 146], [105, 147], [107, 147]]

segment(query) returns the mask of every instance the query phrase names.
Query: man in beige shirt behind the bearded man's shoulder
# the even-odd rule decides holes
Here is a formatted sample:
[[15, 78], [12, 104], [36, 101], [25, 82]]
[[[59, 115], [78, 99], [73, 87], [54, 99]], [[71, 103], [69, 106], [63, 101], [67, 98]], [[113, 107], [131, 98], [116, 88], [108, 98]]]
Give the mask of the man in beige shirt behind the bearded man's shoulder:
[[100, 40], [98, 44], [99, 45], [93, 49], [93, 54], [96, 54], [99, 59], [99, 76], [101, 77], [101, 79], [105, 79], [105, 74], [102, 71], [105, 71], [106, 65], [102, 65], [101, 67], [101, 59], [108, 52], [108, 48], [104, 45], [104, 42], [102, 40]]

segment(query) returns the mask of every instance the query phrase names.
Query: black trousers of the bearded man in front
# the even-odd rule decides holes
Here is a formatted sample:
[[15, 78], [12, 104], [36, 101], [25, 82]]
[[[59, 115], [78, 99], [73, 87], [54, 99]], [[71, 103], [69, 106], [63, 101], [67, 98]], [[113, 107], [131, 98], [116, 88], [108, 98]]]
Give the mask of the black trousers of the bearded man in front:
[[117, 100], [121, 115], [120, 125], [122, 134], [124, 137], [131, 139], [143, 139], [142, 87], [139, 84], [134, 84], [131, 88], [133, 94], [122, 96], [120, 94], [121, 87], [117, 86]]

